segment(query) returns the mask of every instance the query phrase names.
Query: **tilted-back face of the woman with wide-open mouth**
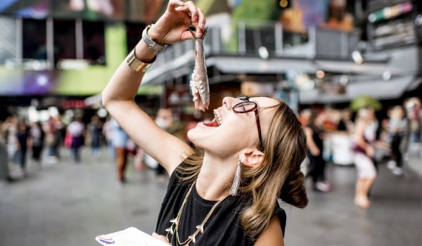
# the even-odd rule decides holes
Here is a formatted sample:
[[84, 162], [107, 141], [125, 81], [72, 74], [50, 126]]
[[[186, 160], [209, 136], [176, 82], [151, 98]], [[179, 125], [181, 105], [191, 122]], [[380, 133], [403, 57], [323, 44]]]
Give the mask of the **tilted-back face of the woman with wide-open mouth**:
[[[267, 136], [269, 124], [274, 115], [274, 108], [279, 102], [272, 98], [249, 98], [257, 103], [260, 117], [262, 138]], [[188, 131], [188, 138], [199, 148], [221, 157], [234, 155], [244, 148], [257, 148], [259, 143], [257, 121], [255, 113], [236, 113], [233, 107], [241, 103], [238, 98], [225, 97], [222, 106], [217, 108], [211, 123], [200, 122], [194, 129]]]

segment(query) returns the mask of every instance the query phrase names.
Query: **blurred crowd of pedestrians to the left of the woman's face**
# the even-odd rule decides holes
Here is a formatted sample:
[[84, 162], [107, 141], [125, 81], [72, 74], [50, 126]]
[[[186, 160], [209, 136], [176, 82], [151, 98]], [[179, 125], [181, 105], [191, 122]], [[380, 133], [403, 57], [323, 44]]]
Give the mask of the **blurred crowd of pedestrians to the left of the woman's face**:
[[[110, 117], [94, 115], [84, 122], [86, 115], [77, 112], [70, 118], [60, 114], [44, 121], [30, 122], [29, 118], [28, 115], [10, 115], [4, 122], [0, 122], [0, 148], [4, 150], [0, 159], [3, 157], [5, 160], [1, 162], [7, 166], [6, 178], [9, 181], [25, 178], [28, 169], [39, 170], [44, 165], [60, 162], [64, 158], [60, 154], [63, 149], [70, 152], [75, 164], [93, 160], [82, 160], [82, 147], [91, 149], [94, 160], [101, 157], [101, 150], [107, 150], [108, 157], [115, 160], [117, 180], [122, 186], [127, 182], [124, 174], [127, 163], [132, 161], [136, 169], [153, 168], [158, 179], [165, 180], [165, 169], [136, 146]], [[195, 117], [181, 122], [169, 108], [158, 110], [152, 118], [159, 127], [186, 142], [187, 131], [198, 122]]]

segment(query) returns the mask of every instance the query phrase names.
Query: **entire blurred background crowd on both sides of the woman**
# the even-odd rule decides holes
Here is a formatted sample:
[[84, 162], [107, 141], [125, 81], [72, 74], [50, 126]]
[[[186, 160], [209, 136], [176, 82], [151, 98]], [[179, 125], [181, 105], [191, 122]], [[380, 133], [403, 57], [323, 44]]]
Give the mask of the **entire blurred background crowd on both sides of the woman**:
[[[328, 192], [333, 188], [326, 179], [326, 163], [354, 164], [357, 167], [354, 202], [359, 207], [370, 207], [368, 194], [378, 175], [378, 163], [388, 163], [393, 174], [402, 175], [407, 153], [420, 150], [421, 109], [420, 99], [409, 98], [402, 105], [389, 108], [385, 118], [377, 118], [371, 107], [355, 112], [350, 108], [326, 107], [302, 110], [299, 118], [308, 143], [303, 167], [314, 190]], [[94, 115], [84, 122], [87, 117], [82, 116], [75, 114], [72, 119], [63, 120], [63, 116], [55, 115], [44, 122], [28, 122], [25, 115], [11, 115], [1, 122], [0, 143], [8, 156], [8, 179], [24, 178], [27, 162], [35, 169], [58, 163], [62, 148], [70, 150], [75, 164], [80, 163], [80, 149], [87, 146], [94, 159], [101, 157], [101, 150], [107, 150], [108, 157], [115, 160], [117, 181], [122, 186], [127, 182], [125, 170], [129, 159], [136, 169], [153, 168], [158, 179], [164, 180], [165, 170], [136, 146], [114, 119]], [[191, 119], [181, 121], [170, 108], [162, 108], [152, 118], [158, 127], [189, 142], [186, 133], [196, 126], [201, 115], [196, 112]]]

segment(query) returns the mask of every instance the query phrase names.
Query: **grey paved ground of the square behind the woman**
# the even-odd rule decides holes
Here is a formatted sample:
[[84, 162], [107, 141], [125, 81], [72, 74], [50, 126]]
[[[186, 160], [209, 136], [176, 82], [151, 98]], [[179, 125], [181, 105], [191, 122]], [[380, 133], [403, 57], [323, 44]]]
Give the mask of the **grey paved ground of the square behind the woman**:
[[[85, 150], [82, 164], [63, 161], [30, 171], [23, 181], [0, 183], [0, 245], [97, 245], [98, 234], [136, 226], [152, 233], [166, 183], [153, 171], [128, 169], [129, 184], [119, 188], [113, 162]], [[328, 168], [334, 190], [309, 190], [309, 206], [288, 214], [286, 245], [421, 245], [422, 178], [411, 169], [394, 176], [381, 165], [372, 190], [373, 207], [352, 205], [353, 167]]]

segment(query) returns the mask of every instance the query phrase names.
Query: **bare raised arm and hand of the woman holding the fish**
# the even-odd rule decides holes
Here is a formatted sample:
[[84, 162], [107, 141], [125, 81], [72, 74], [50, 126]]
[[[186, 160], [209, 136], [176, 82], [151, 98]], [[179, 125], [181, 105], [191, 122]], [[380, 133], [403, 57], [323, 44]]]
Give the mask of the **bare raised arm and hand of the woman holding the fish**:
[[[203, 13], [191, 1], [171, 0], [164, 15], [148, 30], [148, 36], [158, 44], [174, 44], [193, 39], [188, 26], [196, 27], [196, 34], [200, 37], [205, 26]], [[135, 56], [143, 63], [152, 63], [157, 51], [141, 40], [135, 47]], [[132, 70], [124, 60], [103, 90], [103, 105], [120, 127], [172, 174], [193, 151], [184, 141], [160, 129], [136, 105], [134, 98], [143, 75], [143, 71]]]

